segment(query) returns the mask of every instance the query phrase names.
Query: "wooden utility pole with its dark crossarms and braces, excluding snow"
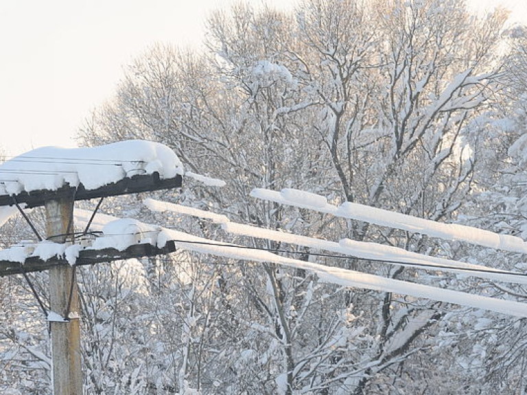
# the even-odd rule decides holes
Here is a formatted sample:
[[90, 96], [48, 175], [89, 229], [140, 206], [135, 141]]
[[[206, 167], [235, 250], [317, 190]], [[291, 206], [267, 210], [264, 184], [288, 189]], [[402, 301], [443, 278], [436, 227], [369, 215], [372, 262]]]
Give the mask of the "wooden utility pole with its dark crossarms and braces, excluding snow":
[[[31, 193], [21, 191], [15, 195], [0, 195], [0, 206], [16, 205], [39, 241], [42, 238], [25, 215], [21, 204], [25, 204], [27, 208], [44, 206], [47, 239], [55, 243], [65, 243], [68, 234], [73, 232], [74, 201], [180, 188], [181, 182], [182, 177], [179, 174], [173, 178], [160, 178], [159, 173], [154, 172], [126, 177], [95, 189], [86, 189], [83, 184], [79, 184], [77, 187], [65, 184], [57, 190], [42, 189]], [[99, 204], [97, 204], [89, 224], [97, 213]], [[48, 259], [42, 259], [40, 256], [27, 256], [23, 263], [0, 261], [0, 277], [13, 274], [26, 275], [30, 272], [49, 270], [50, 306], [48, 321], [51, 331], [51, 370], [54, 395], [82, 395], [80, 306], [75, 267], [141, 256], [169, 254], [174, 251], [176, 251], [175, 243], [170, 241], [163, 248], [157, 248], [150, 243], [137, 243], [132, 244], [126, 250], [110, 247], [103, 250], [81, 249], [78, 252], [75, 266], [69, 265], [69, 261], [64, 256], [54, 256]], [[30, 283], [27, 276], [26, 280]], [[34, 291], [31, 283], [30, 287]], [[40, 302], [36, 291], [34, 294]], [[43, 304], [40, 306], [45, 310]]]

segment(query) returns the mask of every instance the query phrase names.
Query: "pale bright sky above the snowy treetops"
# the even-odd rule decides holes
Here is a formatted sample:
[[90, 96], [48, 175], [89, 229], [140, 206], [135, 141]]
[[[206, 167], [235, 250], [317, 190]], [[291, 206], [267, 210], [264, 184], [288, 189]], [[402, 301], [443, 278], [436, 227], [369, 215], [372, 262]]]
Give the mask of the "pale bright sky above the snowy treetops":
[[[234, 1], [2, 1], [0, 152], [75, 147], [78, 128], [110, 99], [126, 64], [157, 42], [198, 49], [207, 16]], [[476, 10], [502, 3], [527, 22], [527, 1], [472, 1]], [[287, 9], [296, 1], [268, 3]]]

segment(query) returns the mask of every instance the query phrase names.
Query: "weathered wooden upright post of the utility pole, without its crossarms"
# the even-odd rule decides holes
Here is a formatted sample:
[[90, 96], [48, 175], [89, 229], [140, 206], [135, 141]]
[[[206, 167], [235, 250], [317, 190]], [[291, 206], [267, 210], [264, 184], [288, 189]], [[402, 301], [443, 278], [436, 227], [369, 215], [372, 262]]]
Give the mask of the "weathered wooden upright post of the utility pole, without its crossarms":
[[[66, 234], [73, 231], [73, 197], [49, 200], [45, 211], [47, 237], [55, 243], [65, 243]], [[82, 394], [79, 294], [74, 270], [69, 265], [49, 270], [51, 315], [68, 315], [65, 320], [49, 322], [54, 395]]]

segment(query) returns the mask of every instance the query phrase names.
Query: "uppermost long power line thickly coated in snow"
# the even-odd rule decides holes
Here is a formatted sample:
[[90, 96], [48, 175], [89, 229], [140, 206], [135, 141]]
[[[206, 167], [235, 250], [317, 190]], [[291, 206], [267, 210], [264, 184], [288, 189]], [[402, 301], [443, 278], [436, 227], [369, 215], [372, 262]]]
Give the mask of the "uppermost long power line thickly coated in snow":
[[394, 213], [365, 206], [364, 204], [345, 202], [340, 206], [329, 204], [324, 196], [300, 191], [298, 189], [282, 189], [280, 192], [270, 189], [253, 189], [251, 196], [262, 200], [269, 200], [279, 204], [287, 204], [299, 208], [309, 208], [320, 213], [335, 215], [336, 217], [357, 219], [379, 226], [407, 230], [408, 232], [421, 233], [430, 237], [446, 240], [466, 241], [479, 246], [495, 248], [510, 252], [527, 254], [527, 243], [519, 237], [500, 235], [471, 226], [458, 224], [444, 224], [430, 221], [412, 215]]

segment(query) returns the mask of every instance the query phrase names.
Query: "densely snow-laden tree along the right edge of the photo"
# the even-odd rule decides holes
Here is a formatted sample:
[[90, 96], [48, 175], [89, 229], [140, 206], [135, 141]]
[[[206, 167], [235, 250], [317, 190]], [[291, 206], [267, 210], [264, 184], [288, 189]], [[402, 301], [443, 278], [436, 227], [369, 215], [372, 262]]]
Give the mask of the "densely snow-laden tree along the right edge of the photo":
[[[495, 232], [526, 238], [524, 171], [526, 157], [526, 93], [522, 76], [527, 71], [525, 27], [513, 27], [507, 32], [511, 49], [504, 60], [500, 75], [500, 101], [480, 117], [479, 123], [485, 137], [480, 144], [481, 158], [476, 166], [476, 187], [462, 220], [467, 224], [489, 228]], [[493, 250], [469, 251], [482, 262], [505, 270], [524, 272], [526, 264], [522, 254], [495, 252]], [[476, 255], [477, 254], [477, 255]], [[524, 287], [503, 284], [480, 284], [489, 292], [504, 298], [527, 300]], [[474, 360], [478, 365], [478, 378], [486, 383], [488, 392], [522, 394], [526, 383], [526, 331], [524, 320], [488, 316], [480, 318], [473, 346]], [[481, 339], [480, 339], [481, 338]], [[477, 348], [477, 350], [476, 350]]]

